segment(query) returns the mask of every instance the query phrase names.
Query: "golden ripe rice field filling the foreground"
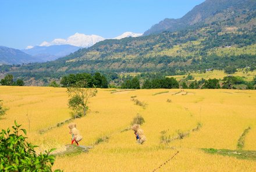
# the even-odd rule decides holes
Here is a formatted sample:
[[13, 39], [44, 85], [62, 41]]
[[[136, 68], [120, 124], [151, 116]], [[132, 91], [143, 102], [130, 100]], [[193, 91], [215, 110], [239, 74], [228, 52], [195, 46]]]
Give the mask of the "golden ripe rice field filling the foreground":
[[[162, 94], [155, 94], [165, 92]], [[153, 94], [155, 96], [153, 96]], [[135, 105], [131, 96], [147, 103]], [[6, 129], [14, 120], [28, 130], [29, 141], [46, 148], [63, 148], [70, 144], [67, 124], [70, 118], [65, 88], [0, 87], [0, 99], [7, 114], [0, 120]], [[170, 102], [167, 102], [167, 100]], [[156, 171], [256, 171], [255, 160], [208, 154], [201, 148], [236, 149], [244, 129], [251, 126], [244, 150], [256, 150], [255, 90], [126, 90], [111, 93], [99, 89], [90, 100], [87, 116], [76, 119], [83, 140], [80, 145], [93, 145], [98, 138], [109, 140], [94, 145], [88, 153], [57, 156], [54, 169], [64, 171], [153, 171], [177, 151], [179, 153]], [[147, 141], [138, 145], [133, 131], [123, 131], [140, 114]], [[29, 131], [30, 120], [30, 131]], [[202, 127], [191, 131], [201, 122]], [[161, 144], [161, 131], [176, 136], [177, 130], [191, 131], [182, 140]]]

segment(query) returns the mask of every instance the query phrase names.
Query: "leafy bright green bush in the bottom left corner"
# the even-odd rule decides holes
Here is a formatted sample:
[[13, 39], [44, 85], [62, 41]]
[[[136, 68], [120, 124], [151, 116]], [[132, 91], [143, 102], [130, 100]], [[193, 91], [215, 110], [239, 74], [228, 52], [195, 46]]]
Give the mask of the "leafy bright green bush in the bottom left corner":
[[[25, 129], [20, 129], [15, 121], [10, 129], [0, 132], [0, 171], [52, 171], [55, 157], [49, 155], [54, 149], [37, 155], [34, 148], [36, 145], [27, 142]], [[60, 171], [60, 170], [55, 170]]]

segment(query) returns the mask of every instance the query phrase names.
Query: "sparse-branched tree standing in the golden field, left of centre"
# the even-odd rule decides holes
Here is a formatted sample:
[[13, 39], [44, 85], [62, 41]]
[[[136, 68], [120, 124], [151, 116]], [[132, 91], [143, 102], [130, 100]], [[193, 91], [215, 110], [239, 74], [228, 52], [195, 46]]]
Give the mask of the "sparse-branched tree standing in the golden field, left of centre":
[[72, 87], [67, 87], [67, 94], [69, 95], [69, 108], [74, 111], [73, 117], [85, 116], [88, 109], [88, 100], [91, 97], [96, 96], [97, 89], [86, 88], [86, 81], [81, 80], [73, 85]]

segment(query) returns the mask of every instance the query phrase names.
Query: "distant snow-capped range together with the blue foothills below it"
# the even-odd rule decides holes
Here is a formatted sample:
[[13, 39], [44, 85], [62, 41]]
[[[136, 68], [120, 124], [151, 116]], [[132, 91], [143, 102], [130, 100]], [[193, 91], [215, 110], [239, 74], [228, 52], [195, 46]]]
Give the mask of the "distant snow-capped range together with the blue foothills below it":
[[[133, 32], [125, 32], [122, 35], [117, 36], [116, 38], [111, 39], [122, 39], [126, 37], [137, 37], [142, 34], [135, 34]], [[24, 53], [8, 53], [8, 47], [5, 49], [2, 48], [0, 52], [0, 64], [27, 64], [35, 62], [46, 62], [56, 60], [59, 57], [64, 57], [70, 53], [76, 52], [77, 50], [93, 46], [95, 43], [104, 41], [105, 38], [102, 38], [98, 35], [85, 35], [76, 33], [69, 36], [67, 39], [54, 39], [51, 42], [42, 42], [40, 46], [28, 46], [26, 49], [23, 49]], [[10, 48], [12, 49], [12, 48]], [[5, 50], [7, 52], [5, 52]], [[14, 51], [15, 49], [12, 49]], [[19, 50], [15, 50], [18, 52]], [[25, 58], [26, 57], [26, 58]]]

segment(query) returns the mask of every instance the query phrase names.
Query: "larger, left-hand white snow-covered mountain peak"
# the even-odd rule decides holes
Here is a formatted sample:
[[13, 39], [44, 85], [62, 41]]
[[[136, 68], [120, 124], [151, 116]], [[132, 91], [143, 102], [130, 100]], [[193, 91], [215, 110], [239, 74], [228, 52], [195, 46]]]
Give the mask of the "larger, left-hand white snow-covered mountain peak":
[[85, 35], [76, 33], [72, 36], [69, 36], [67, 39], [57, 38], [51, 42], [42, 42], [40, 46], [51, 46], [51, 45], [73, 45], [79, 47], [90, 47], [99, 41], [103, 41], [105, 38], [102, 38], [98, 35]]

